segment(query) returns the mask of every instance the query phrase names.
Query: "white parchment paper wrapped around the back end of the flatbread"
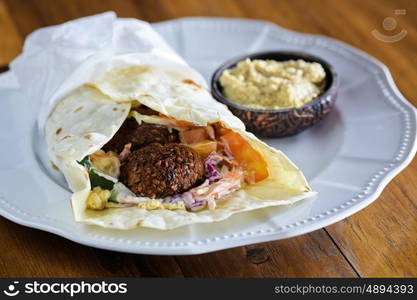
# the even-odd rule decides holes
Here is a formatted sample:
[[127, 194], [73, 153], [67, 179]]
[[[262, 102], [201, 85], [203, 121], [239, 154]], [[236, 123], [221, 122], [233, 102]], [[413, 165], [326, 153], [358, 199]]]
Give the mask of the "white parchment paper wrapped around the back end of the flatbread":
[[113, 67], [131, 65], [175, 69], [207, 86], [149, 23], [117, 18], [114, 12], [34, 31], [10, 67], [43, 132], [51, 110], [64, 95]]

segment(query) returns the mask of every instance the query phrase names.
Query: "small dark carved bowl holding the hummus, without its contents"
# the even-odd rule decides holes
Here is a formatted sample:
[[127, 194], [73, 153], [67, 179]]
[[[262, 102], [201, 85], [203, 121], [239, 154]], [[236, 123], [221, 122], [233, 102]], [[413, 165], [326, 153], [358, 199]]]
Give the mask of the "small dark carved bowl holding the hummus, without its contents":
[[[303, 59], [307, 62], [318, 62], [326, 72], [326, 86], [322, 94], [299, 108], [264, 110], [238, 105], [229, 101], [223, 95], [219, 78], [224, 70], [235, 67], [246, 58], [276, 61]], [[220, 66], [211, 78], [213, 97], [226, 104], [232, 113], [245, 123], [247, 130], [264, 137], [294, 135], [316, 124], [332, 110], [336, 101], [338, 86], [338, 76], [329, 63], [321, 58], [298, 52], [271, 51], [234, 58]]]

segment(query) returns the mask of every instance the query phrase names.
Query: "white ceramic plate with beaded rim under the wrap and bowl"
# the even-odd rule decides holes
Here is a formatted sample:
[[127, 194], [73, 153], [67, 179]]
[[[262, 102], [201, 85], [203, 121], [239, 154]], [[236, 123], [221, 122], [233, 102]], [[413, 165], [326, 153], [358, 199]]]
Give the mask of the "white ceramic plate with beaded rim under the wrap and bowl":
[[241, 19], [187, 18], [155, 28], [207, 80], [224, 61], [263, 50], [305, 51], [340, 75], [335, 110], [294, 137], [268, 139], [303, 171], [316, 199], [241, 213], [172, 231], [118, 231], [75, 223], [70, 192], [51, 170], [28, 101], [11, 74], [0, 77], [0, 214], [78, 243], [132, 253], [195, 254], [310, 232], [378, 198], [416, 152], [416, 114], [388, 69], [341, 42]]

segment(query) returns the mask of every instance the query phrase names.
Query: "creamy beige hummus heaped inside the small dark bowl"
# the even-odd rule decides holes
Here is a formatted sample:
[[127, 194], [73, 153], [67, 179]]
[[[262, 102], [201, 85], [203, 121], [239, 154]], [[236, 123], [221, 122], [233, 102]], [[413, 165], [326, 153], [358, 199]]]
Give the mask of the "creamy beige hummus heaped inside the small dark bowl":
[[250, 60], [225, 70], [223, 94], [239, 105], [257, 109], [298, 108], [323, 92], [326, 72], [304, 60]]

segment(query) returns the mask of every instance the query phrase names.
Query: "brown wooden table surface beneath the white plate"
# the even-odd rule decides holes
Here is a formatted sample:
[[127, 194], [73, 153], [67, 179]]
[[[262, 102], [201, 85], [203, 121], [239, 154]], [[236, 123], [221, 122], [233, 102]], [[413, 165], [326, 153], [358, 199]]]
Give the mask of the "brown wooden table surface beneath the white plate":
[[[406, 9], [406, 15], [395, 15]], [[114, 10], [158, 22], [184, 16], [256, 18], [324, 34], [360, 48], [390, 68], [417, 104], [417, 2], [261, 0], [0, 0], [0, 65], [34, 29]], [[371, 35], [395, 17], [408, 35], [384, 43]], [[3, 146], [3, 145], [2, 145]], [[370, 277], [417, 276], [417, 161], [381, 197], [332, 226], [295, 238], [196, 256], [146, 256], [98, 250], [0, 217], [0, 276]]]

